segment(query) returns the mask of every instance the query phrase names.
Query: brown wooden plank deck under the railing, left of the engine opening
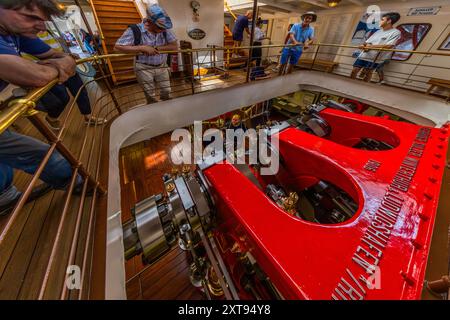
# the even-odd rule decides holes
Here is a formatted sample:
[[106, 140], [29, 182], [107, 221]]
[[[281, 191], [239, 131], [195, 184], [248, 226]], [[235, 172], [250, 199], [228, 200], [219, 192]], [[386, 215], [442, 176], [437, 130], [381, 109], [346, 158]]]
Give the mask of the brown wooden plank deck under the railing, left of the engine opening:
[[[89, 92], [91, 101], [96, 101], [97, 97], [102, 95], [102, 90], [96, 85], [90, 85]], [[105, 111], [112, 108], [108, 103], [105, 103], [104, 107], [107, 109]], [[63, 116], [66, 112], [67, 110]], [[18, 120], [12, 130], [45, 141], [41, 134], [26, 119]], [[88, 132], [88, 143], [86, 146], [88, 149], [86, 151], [89, 151], [94, 138], [98, 143], [100, 130], [86, 126], [77, 107], [75, 107], [70, 115], [63, 142], [76, 156], [80, 153], [86, 131]], [[94, 172], [93, 169], [96, 168], [99, 157], [98, 150], [99, 148], [93, 148], [90, 172]], [[88, 152], [83, 153], [81, 161], [84, 165], [87, 165]], [[15, 172], [14, 183], [20, 190], [24, 190], [30, 180], [31, 176], [23, 172]], [[36, 299], [38, 297], [58, 230], [65, 197], [66, 193], [64, 191], [52, 191], [44, 197], [28, 203], [19, 213], [11, 228], [11, 232], [8, 233], [5, 241], [0, 246], [0, 299]], [[86, 244], [85, 238], [91, 201], [92, 198], [87, 199], [82, 213], [82, 227], [80, 229], [75, 260], [75, 264], [79, 266], [82, 265]], [[79, 202], [80, 198], [74, 196], [70, 203], [62, 233], [62, 245], [56, 254], [57, 263], [54, 264], [50, 274], [45, 298], [59, 298], [67, 267], [65, 263], [61, 262], [68, 261]], [[11, 215], [0, 218], [0, 232], [4, 230], [10, 218]], [[89, 272], [89, 270], [86, 271]], [[84, 298], [87, 298], [87, 296], [84, 296]]]

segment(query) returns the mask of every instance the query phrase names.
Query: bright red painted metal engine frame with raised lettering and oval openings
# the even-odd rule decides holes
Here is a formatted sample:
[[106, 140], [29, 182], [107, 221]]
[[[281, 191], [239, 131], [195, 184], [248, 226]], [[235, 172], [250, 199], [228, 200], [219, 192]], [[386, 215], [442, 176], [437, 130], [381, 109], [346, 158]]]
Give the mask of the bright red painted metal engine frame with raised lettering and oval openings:
[[[234, 166], [223, 163], [204, 172], [222, 219], [219, 233], [238, 239], [240, 250], [252, 253], [287, 299], [419, 299], [449, 125], [425, 128], [331, 109], [321, 116], [332, 127], [328, 139], [295, 128], [278, 134], [288, 183], [301, 189], [307, 176], [327, 180], [358, 202], [355, 216], [339, 225], [297, 219]], [[395, 147], [351, 148], [363, 137]], [[411, 181], [406, 181], [408, 176]], [[399, 210], [391, 226], [392, 219], [382, 212], [386, 208]], [[370, 234], [377, 236], [368, 240]], [[378, 288], [360, 279], [369, 277], [361, 259], [378, 265]]]

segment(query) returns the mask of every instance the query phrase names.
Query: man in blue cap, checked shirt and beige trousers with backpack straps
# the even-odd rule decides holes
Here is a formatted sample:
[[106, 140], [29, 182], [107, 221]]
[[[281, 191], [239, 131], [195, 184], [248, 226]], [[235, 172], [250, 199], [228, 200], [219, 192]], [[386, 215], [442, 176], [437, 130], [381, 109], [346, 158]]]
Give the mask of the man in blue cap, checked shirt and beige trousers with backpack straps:
[[117, 40], [115, 50], [136, 53], [135, 72], [144, 89], [148, 103], [156, 102], [155, 83], [159, 86], [161, 100], [170, 98], [170, 75], [167, 54], [161, 51], [178, 50], [177, 38], [169, 31], [172, 21], [165, 10], [158, 5], [147, 7], [147, 17], [137, 24], [140, 42], [136, 43], [133, 29], [128, 28]]

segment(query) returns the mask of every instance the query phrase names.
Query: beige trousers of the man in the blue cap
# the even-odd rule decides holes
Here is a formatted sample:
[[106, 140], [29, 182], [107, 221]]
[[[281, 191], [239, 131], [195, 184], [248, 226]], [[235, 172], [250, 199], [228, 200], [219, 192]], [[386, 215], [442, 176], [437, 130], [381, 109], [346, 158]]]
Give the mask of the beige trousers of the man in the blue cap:
[[134, 65], [136, 78], [144, 89], [145, 97], [148, 103], [156, 102], [156, 88], [159, 88], [161, 100], [170, 99], [170, 75], [167, 64], [161, 67], [153, 67], [143, 63], [136, 62]]

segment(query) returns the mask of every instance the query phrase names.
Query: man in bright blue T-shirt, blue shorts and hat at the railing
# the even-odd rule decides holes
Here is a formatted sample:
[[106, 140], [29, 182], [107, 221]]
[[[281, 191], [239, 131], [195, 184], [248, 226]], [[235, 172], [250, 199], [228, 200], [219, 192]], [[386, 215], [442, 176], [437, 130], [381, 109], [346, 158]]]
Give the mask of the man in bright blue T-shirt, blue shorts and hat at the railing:
[[[311, 23], [316, 22], [317, 15], [309, 11], [302, 15], [302, 23], [296, 23], [289, 31], [289, 40], [287, 44], [295, 45], [284, 48], [281, 52], [279, 75], [282, 75], [289, 63], [287, 73], [291, 73], [294, 66], [298, 63], [303, 49], [308, 49], [314, 40], [314, 28]], [[302, 45], [302, 46], [301, 46]]]

